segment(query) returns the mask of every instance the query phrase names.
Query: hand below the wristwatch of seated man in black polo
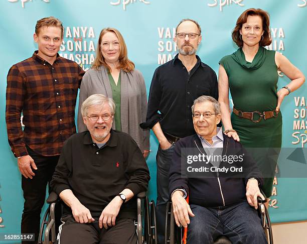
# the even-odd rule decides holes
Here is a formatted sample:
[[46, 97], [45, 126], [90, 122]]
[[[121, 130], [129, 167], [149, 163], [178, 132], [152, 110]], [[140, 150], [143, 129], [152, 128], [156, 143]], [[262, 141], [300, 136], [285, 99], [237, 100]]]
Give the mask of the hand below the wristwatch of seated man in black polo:
[[110, 203], [103, 209], [99, 217], [99, 228], [108, 228], [115, 225], [115, 219], [118, 215], [119, 209], [123, 200], [116, 196], [110, 201]]

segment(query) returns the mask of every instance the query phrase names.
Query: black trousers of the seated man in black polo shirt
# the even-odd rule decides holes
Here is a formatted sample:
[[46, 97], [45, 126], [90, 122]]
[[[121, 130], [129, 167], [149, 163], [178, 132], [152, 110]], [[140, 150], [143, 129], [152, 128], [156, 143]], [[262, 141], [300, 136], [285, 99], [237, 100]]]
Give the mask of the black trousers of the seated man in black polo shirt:
[[59, 244], [136, 244], [137, 235], [134, 219], [121, 218], [115, 225], [99, 228], [95, 220], [92, 223], [78, 223], [72, 215], [62, 218]]

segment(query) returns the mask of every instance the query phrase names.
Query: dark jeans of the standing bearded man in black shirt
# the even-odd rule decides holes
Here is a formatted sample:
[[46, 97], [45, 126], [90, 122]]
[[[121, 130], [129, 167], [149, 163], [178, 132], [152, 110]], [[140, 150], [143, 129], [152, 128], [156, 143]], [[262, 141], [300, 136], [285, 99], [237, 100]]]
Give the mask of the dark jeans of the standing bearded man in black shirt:
[[165, 243], [165, 219], [166, 219], [166, 205], [170, 201], [169, 193], [169, 171], [172, 162], [172, 155], [175, 144], [169, 149], [162, 150], [158, 148], [157, 152], [157, 235], [158, 243]]

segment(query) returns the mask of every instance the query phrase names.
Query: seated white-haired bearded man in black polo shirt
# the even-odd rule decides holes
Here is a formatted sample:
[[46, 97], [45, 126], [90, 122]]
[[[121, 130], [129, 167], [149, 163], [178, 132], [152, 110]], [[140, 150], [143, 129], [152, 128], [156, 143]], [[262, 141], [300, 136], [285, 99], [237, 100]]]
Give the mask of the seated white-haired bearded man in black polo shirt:
[[88, 131], [63, 147], [51, 181], [66, 204], [61, 244], [137, 243], [134, 196], [147, 189], [150, 177], [137, 144], [111, 129], [114, 110], [112, 99], [89, 96], [81, 107]]

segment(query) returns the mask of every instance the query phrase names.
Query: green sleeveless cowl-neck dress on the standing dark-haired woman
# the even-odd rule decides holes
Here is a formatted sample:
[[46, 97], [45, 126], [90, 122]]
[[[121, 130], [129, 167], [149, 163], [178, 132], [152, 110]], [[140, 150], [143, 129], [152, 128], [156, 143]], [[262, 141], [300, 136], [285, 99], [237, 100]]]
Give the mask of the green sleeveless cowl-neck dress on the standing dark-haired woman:
[[[275, 64], [275, 51], [263, 47], [254, 57], [252, 63], [245, 60], [242, 48], [219, 62], [226, 70], [230, 93], [234, 107], [244, 112], [272, 111], [277, 106], [278, 73]], [[255, 116], [254, 119], [258, 119]], [[237, 131], [241, 144], [251, 150], [259, 169], [264, 176], [262, 190], [267, 197], [271, 196], [274, 171], [281, 147], [282, 116], [279, 111], [276, 117], [259, 123], [231, 114], [231, 123]]]

